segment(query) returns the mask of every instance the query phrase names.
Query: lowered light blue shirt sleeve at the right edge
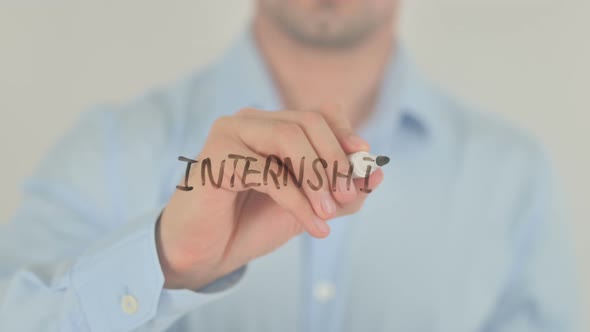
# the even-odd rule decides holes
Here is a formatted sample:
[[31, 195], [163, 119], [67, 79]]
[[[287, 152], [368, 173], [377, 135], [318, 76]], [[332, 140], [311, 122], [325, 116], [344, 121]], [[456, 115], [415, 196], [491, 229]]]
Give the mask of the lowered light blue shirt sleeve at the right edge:
[[582, 326], [573, 240], [551, 165], [537, 151], [513, 225], [512, 262], [484, 332], [575, 332]]

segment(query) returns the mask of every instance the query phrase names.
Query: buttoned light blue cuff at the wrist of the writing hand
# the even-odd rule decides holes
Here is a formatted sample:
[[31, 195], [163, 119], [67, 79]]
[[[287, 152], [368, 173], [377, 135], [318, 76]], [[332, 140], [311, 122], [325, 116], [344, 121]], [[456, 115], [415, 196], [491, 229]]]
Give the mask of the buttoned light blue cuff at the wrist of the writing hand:
[[198, 291], [163, 289], [155, 229], [161, 209], [135, 218], [84, 252], [70, 270], [72, 288], [92, 331], [133, 330], [156, 318], [172, 323], [232, 291], [246, 267]]

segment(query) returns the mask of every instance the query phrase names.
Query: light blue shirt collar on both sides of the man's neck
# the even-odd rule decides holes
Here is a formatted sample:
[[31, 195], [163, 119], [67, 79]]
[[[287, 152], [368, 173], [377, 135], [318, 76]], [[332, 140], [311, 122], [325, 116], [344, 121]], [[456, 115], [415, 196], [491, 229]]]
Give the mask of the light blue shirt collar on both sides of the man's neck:
[[[259, 53], [251, 29], [247, 29], [215, 65], [214, 89], [221, 112], [242, 107], [266, 110], [282, 108], [270, 70]], [[376, 109], [361, 128], [375, 139], [391, 137], [396, 130], [427, 138], [436, 133], [438, 119], [433, 93], [405, 47], [397, 44], [386, 68]], [[363, 135], [363, 136], [365, 136]]]

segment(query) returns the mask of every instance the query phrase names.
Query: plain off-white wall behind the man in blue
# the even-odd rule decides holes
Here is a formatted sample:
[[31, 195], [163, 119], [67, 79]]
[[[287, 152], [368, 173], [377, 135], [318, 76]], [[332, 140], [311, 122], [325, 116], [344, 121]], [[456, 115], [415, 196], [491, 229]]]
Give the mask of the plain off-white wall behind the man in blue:
[[[10, 219], [19, 184], [80, 111], [211, 61], [251, 11], [251, 1], [237, 0], [0, 0], [0, 221]], [[406, 0], [402, 19], [406, 44], [435, 81], [549, 148], [586, 297], [589, 17], [587, 0]]]

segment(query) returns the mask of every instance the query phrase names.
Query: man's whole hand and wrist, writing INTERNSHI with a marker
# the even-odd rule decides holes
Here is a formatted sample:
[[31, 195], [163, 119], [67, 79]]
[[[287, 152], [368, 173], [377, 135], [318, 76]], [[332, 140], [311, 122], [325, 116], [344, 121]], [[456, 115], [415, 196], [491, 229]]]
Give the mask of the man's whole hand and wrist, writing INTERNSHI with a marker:
[[[238, 168], [231, 187], [233, 160], [225, 166], [220, 188], [200, 185], [200, 176], [189, 177], [189, 186], [194, 189], [176, 191], [158, 223], [165, 287], [198, 289], [274, 251], [303, 231], [317, 238], [328, 236], [326, 221], [358, 211], [367, 196], [359, 190], [364, 179], [353, 180], [347, 190], [347, 179], [339, 177], [336, 191], [332, 191], [333, 163], [338, 161], [338, 171], [346, 174], [346, 155], [368, 150], [368, 143], [354, 135], [349, 121], [336, 107], [324, 107], [319, 112], [244, 109], [219, 118], [195, 158], [199, 162], [210, 158], [216, 170], [214, 165], [227, 159], [228, 154], [237, 154], [256, 158], [250, 169], [262, 173], [266, 156], [277, 155], [282, 160], [291, 158], [298, 176], [301, 157], [307, 161], [303, 174], [308, 175], [315, 174], [312, 161], [322, 158], [328, 163], [320, 173], [323, 185], [316, 191], [305, 182], [298, 188], [291, 181], [277, 189], [269, 181], [268, 185], [246, 188]], [[193, 168], [200, 175], [196, 171], [200, 171], [200, 164]], [[381, 170], [375, 171], [369, 177], [369, 187], [375, 188], [382, 179]]]

